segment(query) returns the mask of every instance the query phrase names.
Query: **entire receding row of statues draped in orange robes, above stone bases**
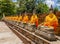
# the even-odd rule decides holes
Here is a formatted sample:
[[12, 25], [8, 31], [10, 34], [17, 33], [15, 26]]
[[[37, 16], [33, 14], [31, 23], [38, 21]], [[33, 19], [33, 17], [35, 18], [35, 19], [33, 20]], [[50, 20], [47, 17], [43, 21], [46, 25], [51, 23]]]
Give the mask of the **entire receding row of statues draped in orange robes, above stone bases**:
[[22, 15], [20, 15], [20, 16], [6, 16], [4, 19], [11, 20], [11, 21], [17, 21], [17, 22], [23, 22], [23, 23], [35, 24], [36, 27], [38, 27], [38, 25], [53, 27], [54, 31], [56, 31], [56, 28], [58, 26], [58, 19], [52, 11], [50, 11], [50, 13], [45, 17], [44, 22], [42, 22], [41, 24], [38, 24], [40, 20], [35, 13], [33, 13], [33, 15], [30, 18], [25, 13], [24, 16], [22, 16]]

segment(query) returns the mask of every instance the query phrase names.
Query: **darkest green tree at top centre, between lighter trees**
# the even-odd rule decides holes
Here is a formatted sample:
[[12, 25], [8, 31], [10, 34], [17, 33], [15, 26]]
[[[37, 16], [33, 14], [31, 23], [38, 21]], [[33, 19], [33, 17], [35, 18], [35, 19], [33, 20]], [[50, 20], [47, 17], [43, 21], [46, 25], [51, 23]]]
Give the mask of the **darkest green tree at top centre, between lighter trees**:
[[36, 0], [27, 0], [26, 1], [26, 8], [27, 8], [27, 12], [33, 12], [33, 10], [35, 9], [36, 6]]

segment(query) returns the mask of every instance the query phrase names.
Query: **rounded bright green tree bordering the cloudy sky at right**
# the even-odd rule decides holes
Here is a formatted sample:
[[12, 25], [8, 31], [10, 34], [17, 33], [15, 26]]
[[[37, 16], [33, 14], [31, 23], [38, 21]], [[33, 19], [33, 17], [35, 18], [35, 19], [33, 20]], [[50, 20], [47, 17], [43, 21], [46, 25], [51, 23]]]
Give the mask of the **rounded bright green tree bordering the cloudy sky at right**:
[[44, 4], [44, 3], [39, 3], [37, 6], [36, 6], [36, 12], [37, 13], [48, 13], [49, 12], [49, 7]]

